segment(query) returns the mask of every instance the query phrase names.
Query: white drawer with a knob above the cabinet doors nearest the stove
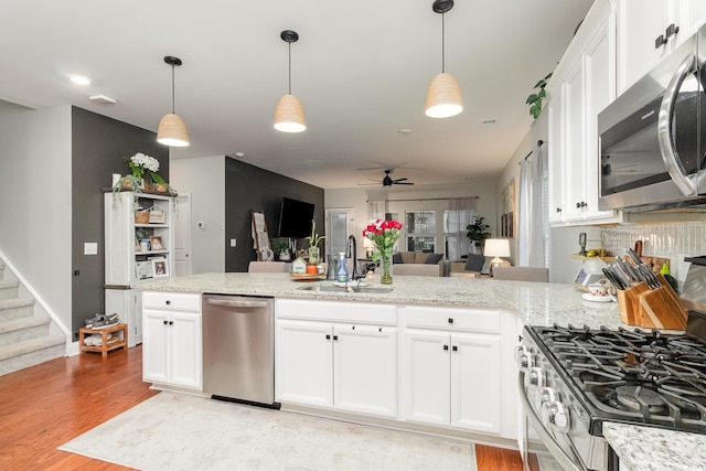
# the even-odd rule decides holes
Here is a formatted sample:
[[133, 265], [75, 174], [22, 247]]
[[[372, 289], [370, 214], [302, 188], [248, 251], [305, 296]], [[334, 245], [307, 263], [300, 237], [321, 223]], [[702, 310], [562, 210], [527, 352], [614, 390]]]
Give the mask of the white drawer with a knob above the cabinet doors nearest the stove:
[[480, 309], [442, 309], [404, 307], [408, 328], [459, 330], [470, 332], [500, 333], [500, 311]]

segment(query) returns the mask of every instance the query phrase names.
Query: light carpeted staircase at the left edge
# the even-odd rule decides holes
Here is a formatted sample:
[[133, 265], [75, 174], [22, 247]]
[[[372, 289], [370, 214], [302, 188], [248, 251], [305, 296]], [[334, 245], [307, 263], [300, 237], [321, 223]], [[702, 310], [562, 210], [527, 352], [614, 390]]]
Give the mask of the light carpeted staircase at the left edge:
[[51, 335], [51, 319], [34, 315], [34, 299], [20, 298], [20, 282], [0, 260], [0, 376], [66, 354], [64, 335]]

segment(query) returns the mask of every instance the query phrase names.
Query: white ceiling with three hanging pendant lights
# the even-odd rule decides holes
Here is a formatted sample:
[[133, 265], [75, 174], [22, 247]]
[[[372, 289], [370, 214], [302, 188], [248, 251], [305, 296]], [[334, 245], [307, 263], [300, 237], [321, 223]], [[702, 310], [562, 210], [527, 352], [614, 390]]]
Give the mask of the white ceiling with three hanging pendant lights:
[[[532, 125], [526, 97], [591, 3], [457, 0], [446, 14], [446, 71], [464, 110], [434, 119], [424, 114], [441, 72], [432, 0], [3, 0], [0, 99], [13, 105], [0, 113], [71, 104], [156, 131], [171, 110], [163, 57], [175, 55], [175, 111], [191, 146], [172, 158], [242, 152], [324, 189], [375, 184], [385, 168], [417, 185], [496, 178]], [[286, 29], [300, 36], [291, 86], [307, 115], [301, 133], [272, 128], [288, 86]], [[71, 74], [93, 83], [77, 86]], [[118, 103], [95, 104], [94, 94]]]

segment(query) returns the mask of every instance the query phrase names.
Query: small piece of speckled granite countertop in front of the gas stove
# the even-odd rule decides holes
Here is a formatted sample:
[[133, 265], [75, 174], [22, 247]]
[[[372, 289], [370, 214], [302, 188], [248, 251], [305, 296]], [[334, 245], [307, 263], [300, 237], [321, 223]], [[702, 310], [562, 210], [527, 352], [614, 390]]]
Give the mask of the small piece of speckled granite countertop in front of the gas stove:
[[621, 471], [706, 470], [706, 435], [605, 422], [603, 436]]

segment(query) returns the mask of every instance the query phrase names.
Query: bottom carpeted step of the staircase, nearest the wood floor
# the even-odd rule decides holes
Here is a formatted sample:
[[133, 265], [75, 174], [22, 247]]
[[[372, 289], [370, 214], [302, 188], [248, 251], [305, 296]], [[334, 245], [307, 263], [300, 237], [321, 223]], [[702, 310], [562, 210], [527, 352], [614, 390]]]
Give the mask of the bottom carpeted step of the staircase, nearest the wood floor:
[[63, 335], [45, 335], [0, 346], [0, 376], [65, 355]]

